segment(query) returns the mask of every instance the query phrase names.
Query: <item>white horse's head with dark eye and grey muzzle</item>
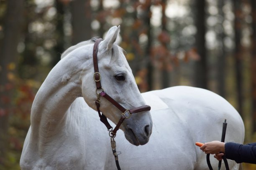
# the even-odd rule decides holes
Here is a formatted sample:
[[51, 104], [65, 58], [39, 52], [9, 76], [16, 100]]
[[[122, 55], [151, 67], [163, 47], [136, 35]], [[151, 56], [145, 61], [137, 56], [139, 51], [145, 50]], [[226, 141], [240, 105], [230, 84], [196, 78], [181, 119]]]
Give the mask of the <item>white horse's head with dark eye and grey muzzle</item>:
[[[99, 42], [97, 51], [98, 76], [102, 87], [95, 84], [95, 70], [90, 46], [90, 62], [84, 66], [81, 73], [82, 95], [87, 104], [97, 110], [95, 100], [100, 101], [100, 111], [115, 124], [118, 124], [122, 112], [105, 97], [98, 95], [101, 91], [126, 109], [145, 105], [145, 101], [138, 90], [131, 68], [116, 40], [120, 27], [112, 27], [104, 40]], [[95, 39], [92, 41], [95, 41]], [[82, 50], [78, 48], [77, 50]], [[87, 54], [88, 55], [88, 54]], [[89, 65], [88, 65], [89, 64]], [[100, 99], [99, 99], [100, 97]], [[148, 110], [132, 114], [120, 126], [125, 133], [125, 138], [133, 145], [144, 145], [148, 142], [152, 132], [152, 119]]]

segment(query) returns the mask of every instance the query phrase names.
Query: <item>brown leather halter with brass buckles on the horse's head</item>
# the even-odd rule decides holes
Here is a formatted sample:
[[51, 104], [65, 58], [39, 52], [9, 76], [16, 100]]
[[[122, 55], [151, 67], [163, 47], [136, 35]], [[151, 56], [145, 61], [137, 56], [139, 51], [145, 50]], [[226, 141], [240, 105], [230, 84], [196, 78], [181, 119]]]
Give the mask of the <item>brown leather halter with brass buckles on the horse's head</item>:
[[[95, 80], [96, 83], [96, 93], [97, 90], [101, 90], [100, 93], [97, 93], [97, 100], [95, 101], [95, 104], [97, 106], [97, 111], [100, 117], [100, 121], [104, 123], [104, 125], [108, 128], [108, 131], [110, 131], [111, 135], [115, 136], [116, 132], [118, 131], [118, 129], [120, 128], [120, 125], [123, 123], [123, 121], [125, 120], [125, 118], [129, 118], [131, 117], [131, 114], [133, 113], [138, 113], [138, 112], [142, 112], [142, 111], [149, 111], [151, 109], [151, 107], [149, 105], [144, 105], [144, 106], [140, 106], [140, 107], [136, 107], [133, 109], [125, 109], [123, 106], [121, 106], [118, 102], [116, 102], [112, 97], [110, 97], [102, 88], [101, 86], [101, 82], [100, 82], [100, 72], [99, 72], [99, 67], [98, 67], [98, 60], [97, 60], [97, 52], [98, 52], [98, 47], [100, 42], [102, 41], [102, 38], [98, 38], [95, 41], [94, 47], [93, 47], [93, 66], [94, 66], [94, 75], [93, 78]], [[118, 121], [118, 124], [115, 126], [114, 130], [113, 127], [109, 124], [107, 117], [105, 115], [100, 114], [100, 97], [105, 97], [105, 99], [107, 99], [109, 102], [111, 102], [115, 107], [117, 107], [121, 112], [122, 112], [122, 116], [120, 118], [120, 120]], [[111, 129], [111, 130], [110, 130]]]

